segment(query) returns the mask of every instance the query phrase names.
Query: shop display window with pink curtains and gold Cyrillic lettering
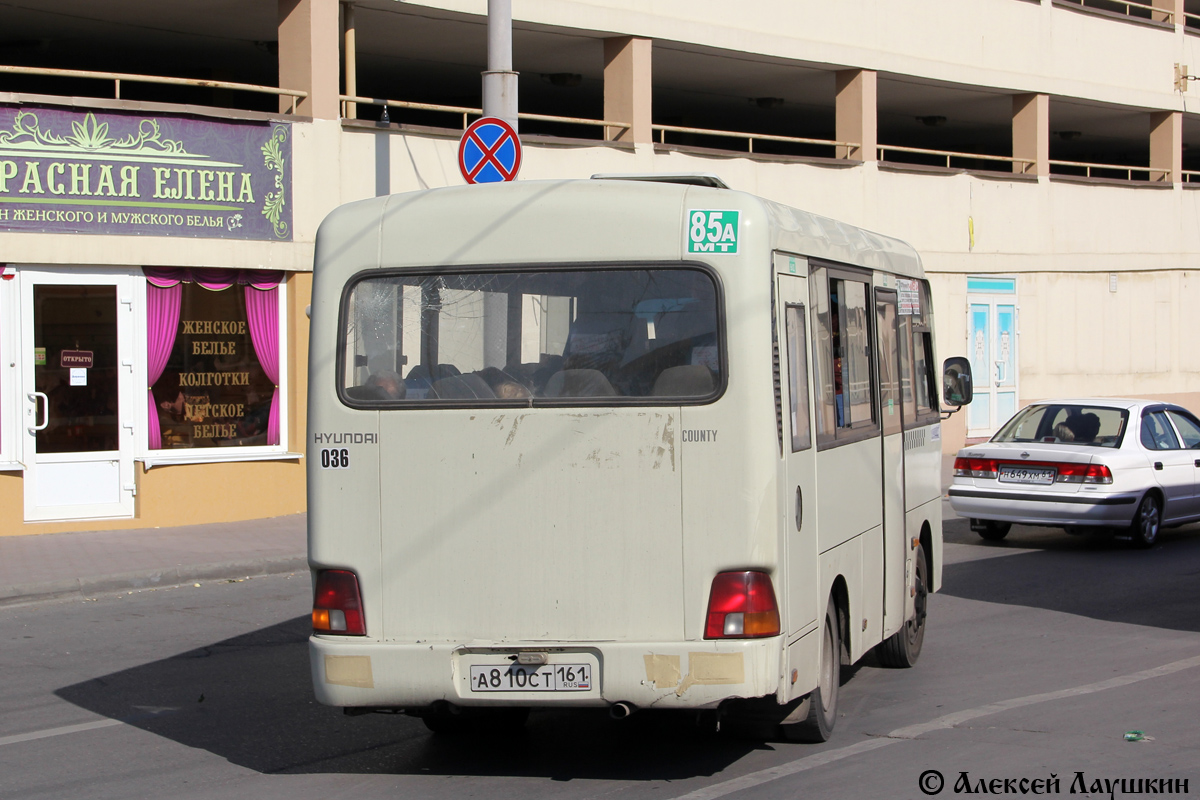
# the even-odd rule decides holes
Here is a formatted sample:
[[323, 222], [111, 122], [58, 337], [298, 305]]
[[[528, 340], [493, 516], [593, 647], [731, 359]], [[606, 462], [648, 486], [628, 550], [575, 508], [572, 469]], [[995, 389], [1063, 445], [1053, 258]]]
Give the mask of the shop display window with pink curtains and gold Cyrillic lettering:
[[146, 267], [150, 450], [281, 443], [281, 272]]

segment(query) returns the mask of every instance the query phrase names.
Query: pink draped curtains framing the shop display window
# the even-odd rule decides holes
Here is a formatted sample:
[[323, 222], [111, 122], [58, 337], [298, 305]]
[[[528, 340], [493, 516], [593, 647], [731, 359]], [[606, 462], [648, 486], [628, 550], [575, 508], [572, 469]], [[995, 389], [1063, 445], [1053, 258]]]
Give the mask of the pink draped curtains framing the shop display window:
[[[222, 270], [216, 267], [144, 266], [146, 276], [146, 350], [150, 401], [148, 429], [150, 449], [162, 449], [162, 423], [154, 399], [154, 384], [167, 368], [179, 331], [184, 289], [181, 283], [197, 283], [210, 291], [246, 284], [246, 323], [254, 354], [266, 378], [275, 384], [271, 411], [266, 423], [266, 443], [280, 443], [280, 303], [276, 287], [283, 273], [275, 270]], [[175, 399], [174, 397], [170, 399]]]

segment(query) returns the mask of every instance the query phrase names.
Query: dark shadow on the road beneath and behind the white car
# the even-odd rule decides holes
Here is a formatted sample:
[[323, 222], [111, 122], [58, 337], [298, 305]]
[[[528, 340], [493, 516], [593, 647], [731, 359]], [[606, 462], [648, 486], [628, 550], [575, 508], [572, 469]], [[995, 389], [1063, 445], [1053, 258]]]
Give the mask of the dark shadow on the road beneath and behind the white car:
[[947, 564], [944, 594], [1200, 631], [1200, 528], [1195, 525], [1162, 531], [1159, 543], [1147, 551], [1127, 540], [1093, 540], [1056, 528], [1014, 525], [1000, 542], [985, 542], [965, 519], [947, 521], [943, 530], [946, 542], [1007, 557]]

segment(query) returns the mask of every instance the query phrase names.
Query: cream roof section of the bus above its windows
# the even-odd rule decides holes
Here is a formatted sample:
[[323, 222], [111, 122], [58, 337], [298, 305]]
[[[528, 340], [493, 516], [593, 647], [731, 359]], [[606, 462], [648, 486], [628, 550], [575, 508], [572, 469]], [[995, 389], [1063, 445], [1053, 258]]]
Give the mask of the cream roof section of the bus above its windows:
[[[350, 270], [547, 259], [720, 264], [721, 255], [686, 253], [684, 236], [692, 211], [726, 209], [742, 213], [743, 253], [784, 251], [924, 275], [917, 252], [899, 239], [736, 190], [635, 178], [452, 186], [349, 203], [322, 224], [317, 261]], [[763, 228], [766, 237], [758, 233]], [[323, 247], [329, 236], [359, 239], [358, 258], [347, 259], [350, 251], [341, 246]]]

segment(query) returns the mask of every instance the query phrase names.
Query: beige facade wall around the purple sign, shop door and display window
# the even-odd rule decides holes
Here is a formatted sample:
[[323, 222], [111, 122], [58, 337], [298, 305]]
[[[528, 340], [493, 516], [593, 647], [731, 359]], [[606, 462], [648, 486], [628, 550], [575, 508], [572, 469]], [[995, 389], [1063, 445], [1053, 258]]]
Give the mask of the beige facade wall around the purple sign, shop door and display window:
[[[0, 282], [10, 318], [0, 318], [0, 535], [302, 511], [304, 312], [317, 227], [341, 203], [463, 182], [456, 151], [480, 107], [486, 4], [362, 0], [348, 13], [335, 0], [269, 0], [229, 4], [224, 17], [130, 4], [104, 12], [95, 35], [108, 47], [95, 53], [72, 48], [71, 34], [37, 13], [46, 5], [2, 12], [8, 30], [50, 44], [10, 61], [41, 74], [0, 73], [0, 108], [287, 125], [290, 231], [275, 241], [55, 233], [10, 215], [0, 216], [0, 264], [18, 275], [282, 272], [286, 440], [254, 459], [212, 451], [204, 463], [163, 464], [137, 429], [130, 513], [26, 521], [24, 431], [30, 409], [41, 411], [23, 395], [13, 318], [31, 309], [17, 296], [20, 278]], [[166, 31], [162, 52], [114, 60], [114, 50], [136, 52], [148, 19]], [[990, 392], [990, 416], [983, 405], [976, 417], [952, 416], [947, 451], [995, 429], [1009, 405], [1046, 397], [1148, 396], [1200, 409], [1190, 312], [1200, 301], [1200, 113], [1187, 78], [1189, 67], [1200, 72], [1198, 34], [1190, 0], [1145, 10], [1100, 0], [517, 4], [520, 108], [540, 115], [521, 121], [520, 179], [715, 173], [908, 241], [930, 276], [938, 356], [971, 355], [988, 375], [977, 386]], [[238, 66], [194, 72], [204, 48], [209, 62]], [[138, 95], [122, 80], [115, 100], [112, 83], [79, 86], [49, 74], [56, 68], [293, 94], [150, 85]], [[386, 122], [376, 98], [390, 101]], [[0, 150], [6, 158], [16, 163]], [[10, 176], [0, 211], [19, 206], [19, 180]]]

